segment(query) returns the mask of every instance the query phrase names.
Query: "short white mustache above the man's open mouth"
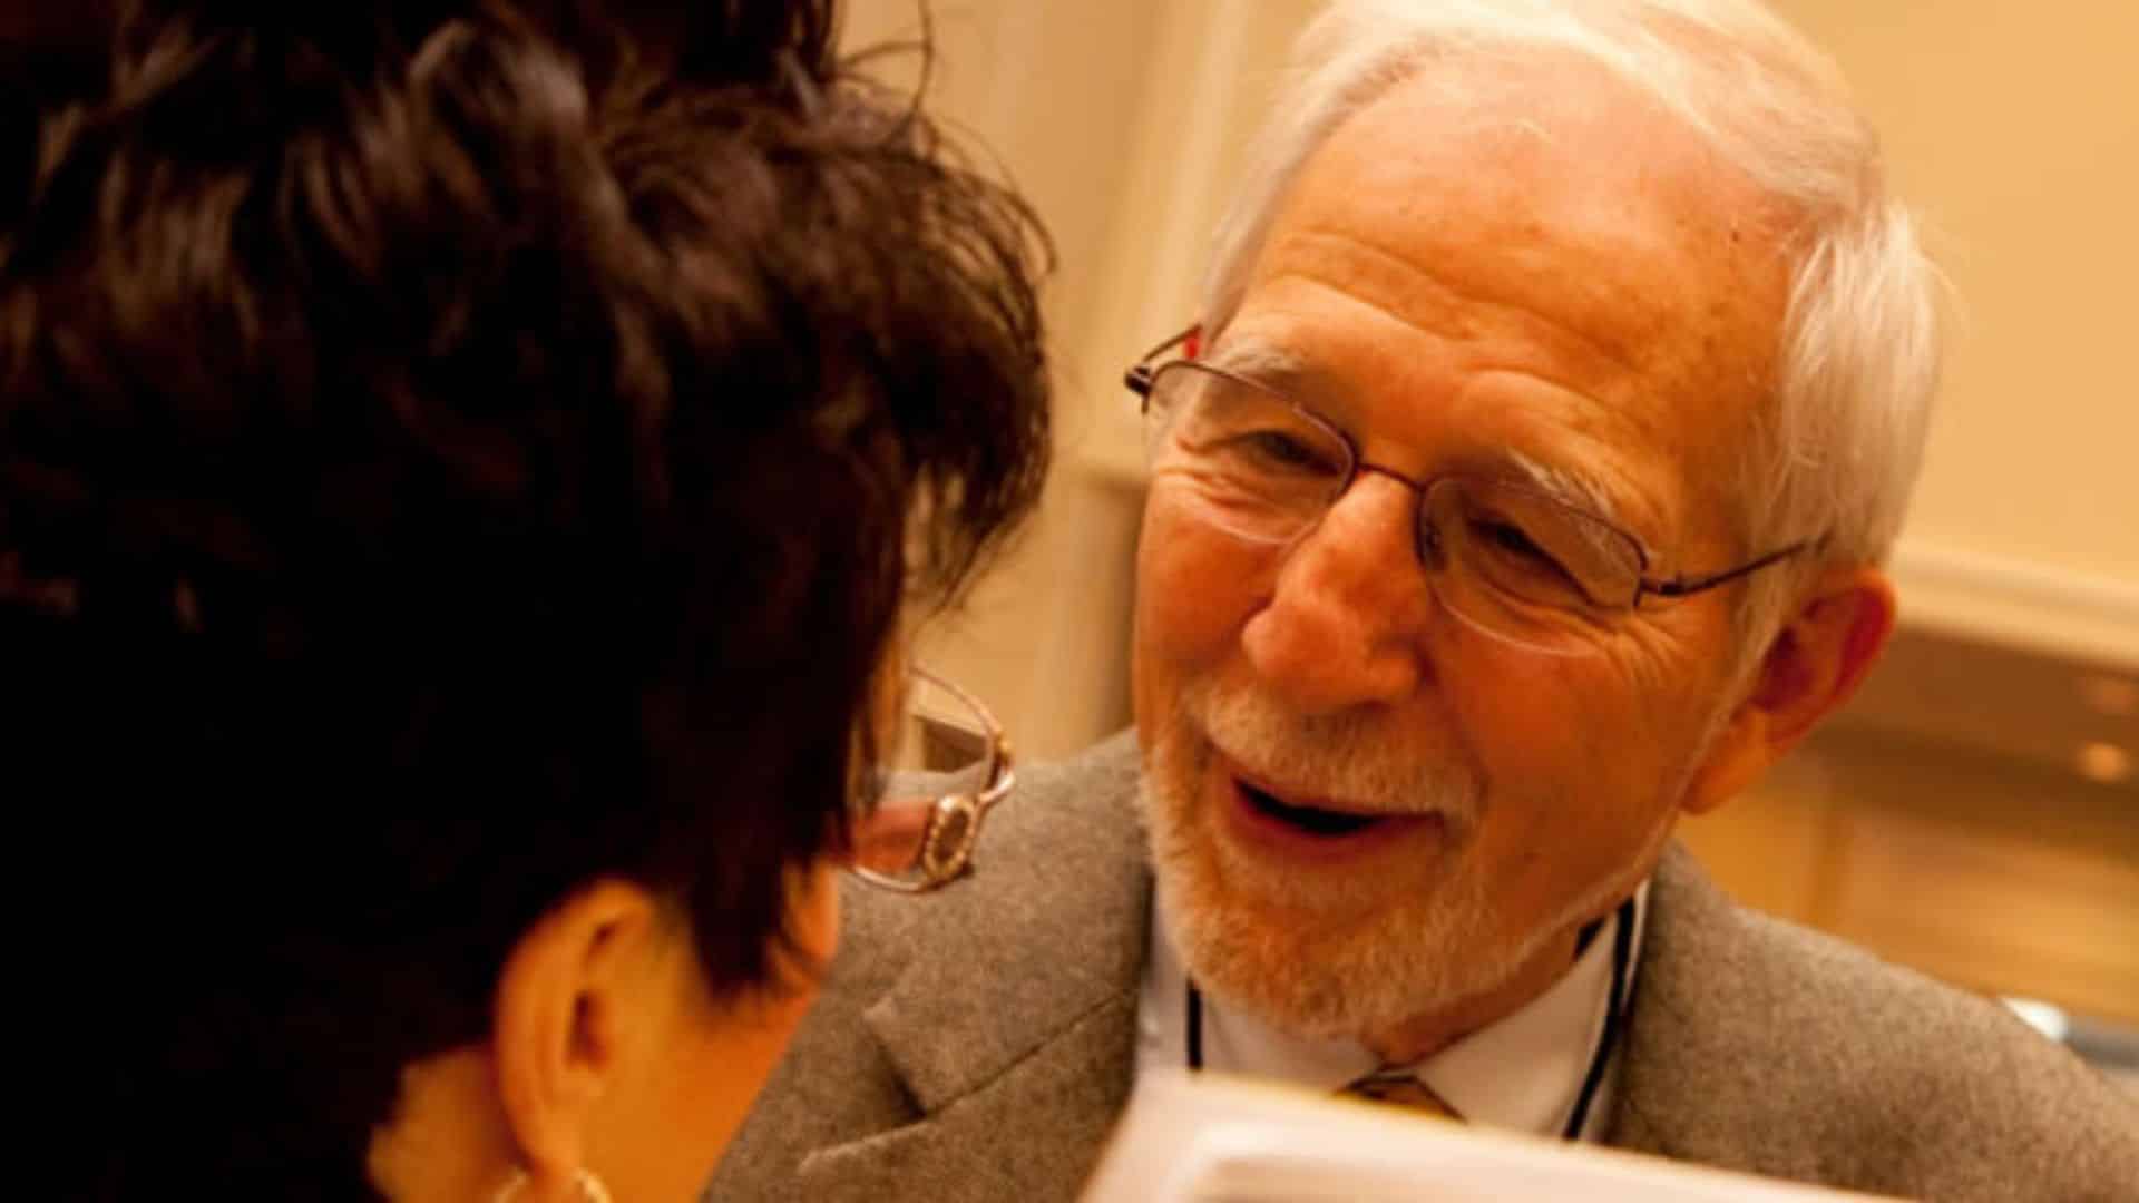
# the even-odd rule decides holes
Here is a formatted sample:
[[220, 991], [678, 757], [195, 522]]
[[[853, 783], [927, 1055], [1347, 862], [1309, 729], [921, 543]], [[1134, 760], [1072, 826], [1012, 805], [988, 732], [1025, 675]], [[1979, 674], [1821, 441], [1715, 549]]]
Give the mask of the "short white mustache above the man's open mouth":
[[1420, 764], [1369, 715], [1286, 713], [1251, 691], [1196, 683], [1181, 694], [1181, 719], [1200, 728], [1228, 760], [1283, 790], [1286, 801], [1386, 816], [1442, 816], [1469, 824], [1478, 781], [1461, 768]]

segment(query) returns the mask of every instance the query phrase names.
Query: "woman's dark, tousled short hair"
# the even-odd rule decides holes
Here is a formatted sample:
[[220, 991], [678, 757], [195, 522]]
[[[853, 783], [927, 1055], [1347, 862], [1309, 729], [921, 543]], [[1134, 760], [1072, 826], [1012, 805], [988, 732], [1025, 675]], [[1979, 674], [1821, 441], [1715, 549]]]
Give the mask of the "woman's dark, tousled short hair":
[[806, 972], [901, 608], [1040, 488], [1046, 242], [826, 0], [96, 11], [0, 120], [53, 1107], [92, 1197], [366, 1199], [575, 886]]

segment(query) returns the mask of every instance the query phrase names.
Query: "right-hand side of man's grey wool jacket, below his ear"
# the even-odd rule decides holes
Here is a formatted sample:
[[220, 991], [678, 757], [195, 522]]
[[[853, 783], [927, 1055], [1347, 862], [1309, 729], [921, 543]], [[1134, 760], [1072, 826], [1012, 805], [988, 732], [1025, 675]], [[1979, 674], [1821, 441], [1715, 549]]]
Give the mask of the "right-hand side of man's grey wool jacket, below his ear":
[[2113, 1199], [2139, 1105], [2006, 1008], [1739, 908], [1651, 890], [1613, 1143], [1932, 1199]]

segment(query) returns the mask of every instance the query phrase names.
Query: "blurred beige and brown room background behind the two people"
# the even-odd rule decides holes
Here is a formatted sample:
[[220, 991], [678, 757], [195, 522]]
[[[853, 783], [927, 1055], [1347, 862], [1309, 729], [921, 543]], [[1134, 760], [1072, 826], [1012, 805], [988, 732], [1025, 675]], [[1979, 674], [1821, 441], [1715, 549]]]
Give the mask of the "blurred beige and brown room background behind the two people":
[[[2139, 4], [1773, 0], [1833, 51], [1957, 293], [1893, 572], [1904, 631], [1754, 794], [1681, 831], [1739, 899], [2015, 1002], [2139, 1092]], [[928, 664], [1025, 758], [1129, 721], [1142, 456], [1121, 370], [1209, 235], [1313, 0], [933, 0], [928, 105], [1037, 205], [1048, 501]], [[920, 32], [851, 0], [845, 43]], [[879, 73], [913, 86], [920, 60]], [[1726, 989], [1726, 983], [1720, 983]]]

